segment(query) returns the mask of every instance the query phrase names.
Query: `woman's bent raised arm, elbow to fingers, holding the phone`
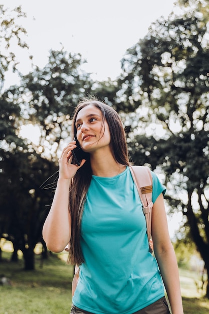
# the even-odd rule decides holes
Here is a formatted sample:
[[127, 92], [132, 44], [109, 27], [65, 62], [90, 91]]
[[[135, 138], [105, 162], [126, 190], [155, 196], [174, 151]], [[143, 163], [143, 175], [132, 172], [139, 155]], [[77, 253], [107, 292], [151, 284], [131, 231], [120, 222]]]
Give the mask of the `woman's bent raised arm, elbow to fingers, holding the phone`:
[[72, 165], [71, 150], [76, 147], [75, 141], [70, 142], [62, 151], [59, 159], [59, 179], [50, 212], [43, 226], [43, 239], [52, 252], [62, 252], [70, 241], [71, 217], [69, 213], [69, 187], [77, 170], [83, 166]]

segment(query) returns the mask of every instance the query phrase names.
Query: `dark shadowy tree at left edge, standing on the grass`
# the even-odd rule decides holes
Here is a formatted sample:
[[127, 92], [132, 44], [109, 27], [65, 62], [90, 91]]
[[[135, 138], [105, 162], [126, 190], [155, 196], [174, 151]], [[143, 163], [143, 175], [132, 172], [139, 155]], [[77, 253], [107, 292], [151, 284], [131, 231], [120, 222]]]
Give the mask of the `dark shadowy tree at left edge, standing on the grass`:
[[34, 248], [41, 241], [47, 205], [52, 198], [51, 191], [41, 188], [56, 167], [41, 158], [34, 144], [20, 138], [17, 133], [21, 120], [19, 106], [7, 101], [6, 95], [0, 99], [4, 119], [0, 124], [1, 158], [1, 235], [12, 241], [13, 260], [21, 250], [25, 259], [25, 269], [34, 269]]

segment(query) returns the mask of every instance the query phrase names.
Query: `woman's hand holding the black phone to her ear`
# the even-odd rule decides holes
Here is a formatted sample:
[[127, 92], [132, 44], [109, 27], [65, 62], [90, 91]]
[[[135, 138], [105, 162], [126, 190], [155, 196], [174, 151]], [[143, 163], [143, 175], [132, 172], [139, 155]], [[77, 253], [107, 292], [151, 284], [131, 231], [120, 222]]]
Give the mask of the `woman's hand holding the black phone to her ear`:
[[59, 159], [59, 179], [72, 179], [79, 168], [81, 168], [86, 162], [84, 159], [81, 161], [81, 165], [73, 165], [72, 161], [72, 150], [76, 148], [76, 141], [70, 142], [62, 151]]

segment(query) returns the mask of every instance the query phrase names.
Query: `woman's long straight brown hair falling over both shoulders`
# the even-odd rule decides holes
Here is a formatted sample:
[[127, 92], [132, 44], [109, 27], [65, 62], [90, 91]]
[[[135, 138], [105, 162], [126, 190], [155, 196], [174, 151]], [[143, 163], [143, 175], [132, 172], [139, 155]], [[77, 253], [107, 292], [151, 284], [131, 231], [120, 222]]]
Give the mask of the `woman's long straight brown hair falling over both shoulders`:
[[[104, 102], [95, 97], [82, 98], [78, 103], [72, 122], [72, 135], [76, 136], [77, 129], [75, 121], [78, 112], [88, 105], [94, 105], [102, 112], [102, 127], [105, 120], [110, 130], [110, 146], [115, 160], [122, 165], [129, 166], [129, 156], [126, 144], [125, 132], [118, 113]], [[102, 129], [101, 127], [101, 129]], [[102, 136], [103, 134], [101, 134]], [[84, 262], [80, 237], [81, 237], [81, 220], [86, 200], [86, 194], [91, 183], [92, 170], [90, 164], [90, 154], [85, 153], [86, 162], [74, 176], [69, 190], [69, 211], [72, 219], [71, 224], [71, 239], [69, 250], [69, 261], [72, 264], [82, 264]]]

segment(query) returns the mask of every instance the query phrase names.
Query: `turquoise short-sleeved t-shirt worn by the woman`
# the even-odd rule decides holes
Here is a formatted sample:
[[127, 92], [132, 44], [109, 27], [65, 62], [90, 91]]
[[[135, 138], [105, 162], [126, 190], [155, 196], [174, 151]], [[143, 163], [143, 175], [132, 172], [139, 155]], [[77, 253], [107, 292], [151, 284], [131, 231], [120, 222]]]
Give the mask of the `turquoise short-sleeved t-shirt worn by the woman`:
[[[153, 177], [153, 203], [165, 193]], [[81, 224], [85, 262], [73, 304], [95, 314], [131, 314], [164, 295], [148, 251], [142, 204], [129, 168], [112, 178], [92, 176]]]

